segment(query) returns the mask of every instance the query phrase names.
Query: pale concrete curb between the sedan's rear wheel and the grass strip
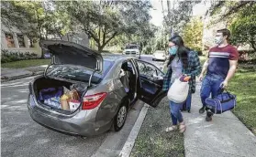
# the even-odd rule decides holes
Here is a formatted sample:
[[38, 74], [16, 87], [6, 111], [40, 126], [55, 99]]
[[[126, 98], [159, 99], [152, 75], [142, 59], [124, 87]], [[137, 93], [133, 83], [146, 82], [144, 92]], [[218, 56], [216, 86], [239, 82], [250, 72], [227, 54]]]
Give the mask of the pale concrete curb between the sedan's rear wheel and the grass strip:
[[119, 153], [119, 157], [129, 157], [129, 155], [133, 149], [134, 143], [137, 139], [137, 136], [139, 134], [142, 123], [146, 117], [148, 110], [149, 110], [149, 107], [150, 107], [149, 105], [144, 104], [142, 110], [139, 113], [138, 119], [136, 120], [132, 130], [130, 131], [130, 133], [128, 135], [128, 140], [126, 141], [122, 151]]

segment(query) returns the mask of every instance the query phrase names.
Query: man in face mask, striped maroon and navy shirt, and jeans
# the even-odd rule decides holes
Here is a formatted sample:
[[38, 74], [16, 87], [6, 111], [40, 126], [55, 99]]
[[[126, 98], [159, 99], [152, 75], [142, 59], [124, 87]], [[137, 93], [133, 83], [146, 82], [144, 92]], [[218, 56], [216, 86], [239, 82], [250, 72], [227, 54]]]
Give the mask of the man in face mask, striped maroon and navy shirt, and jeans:
[[208, 58], [199, 76], [202, 81], [204, 73], [207, 71], [201, 88], [203, 107], [199, 110], [201, 114], [206, 110], [206, 121], [212, 120], [213, 116], [213, 113], [206, 108], [206, 98], [210, 95], [215, 98], [219, 89], [228, 87], [228, 81], [234, 76], [238, 65], [239, 52], [228, 44], [228, 37], [230, 37], [228, 29], [217, 30], [215, 37], [217, 47], [212, 47], [209, 50]]

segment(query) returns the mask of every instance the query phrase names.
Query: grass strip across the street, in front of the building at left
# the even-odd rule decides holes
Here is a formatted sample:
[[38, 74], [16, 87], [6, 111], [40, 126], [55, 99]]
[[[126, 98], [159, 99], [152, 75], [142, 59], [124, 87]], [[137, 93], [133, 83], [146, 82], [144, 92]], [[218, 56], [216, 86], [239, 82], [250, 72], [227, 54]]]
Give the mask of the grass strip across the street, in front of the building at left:
[[9, 63], [2, 63], [1, 68], [28, 68], [34, 66], [48, 65], [50, 64], [50, 59], [29, 59], [29, 60], [19, 60]]

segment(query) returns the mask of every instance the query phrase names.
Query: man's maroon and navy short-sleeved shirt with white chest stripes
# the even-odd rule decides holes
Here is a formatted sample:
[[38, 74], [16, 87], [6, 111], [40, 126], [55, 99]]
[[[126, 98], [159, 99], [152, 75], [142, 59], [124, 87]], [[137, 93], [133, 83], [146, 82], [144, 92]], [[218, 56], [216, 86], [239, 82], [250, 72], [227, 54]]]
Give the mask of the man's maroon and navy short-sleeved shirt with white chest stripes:
[[226, 47], [212, 47], [208, 54], [208, 76], [225, 79], [228, 75], [229, 60], [238, 60], [237, 48], [227, 45]]

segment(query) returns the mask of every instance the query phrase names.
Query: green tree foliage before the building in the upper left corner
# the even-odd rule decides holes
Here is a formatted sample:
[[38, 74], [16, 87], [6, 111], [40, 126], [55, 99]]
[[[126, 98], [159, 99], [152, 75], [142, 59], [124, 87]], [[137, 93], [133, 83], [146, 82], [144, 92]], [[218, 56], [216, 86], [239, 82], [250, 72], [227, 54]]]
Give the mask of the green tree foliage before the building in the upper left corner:
[[56, 11], [53, 2], [5, 1], [1, 4], [4, 25], [10, 29], [16, 26], [29, 38], [45, 39], [49, 34], [61, 37], [71, 31], [70, 16]]

